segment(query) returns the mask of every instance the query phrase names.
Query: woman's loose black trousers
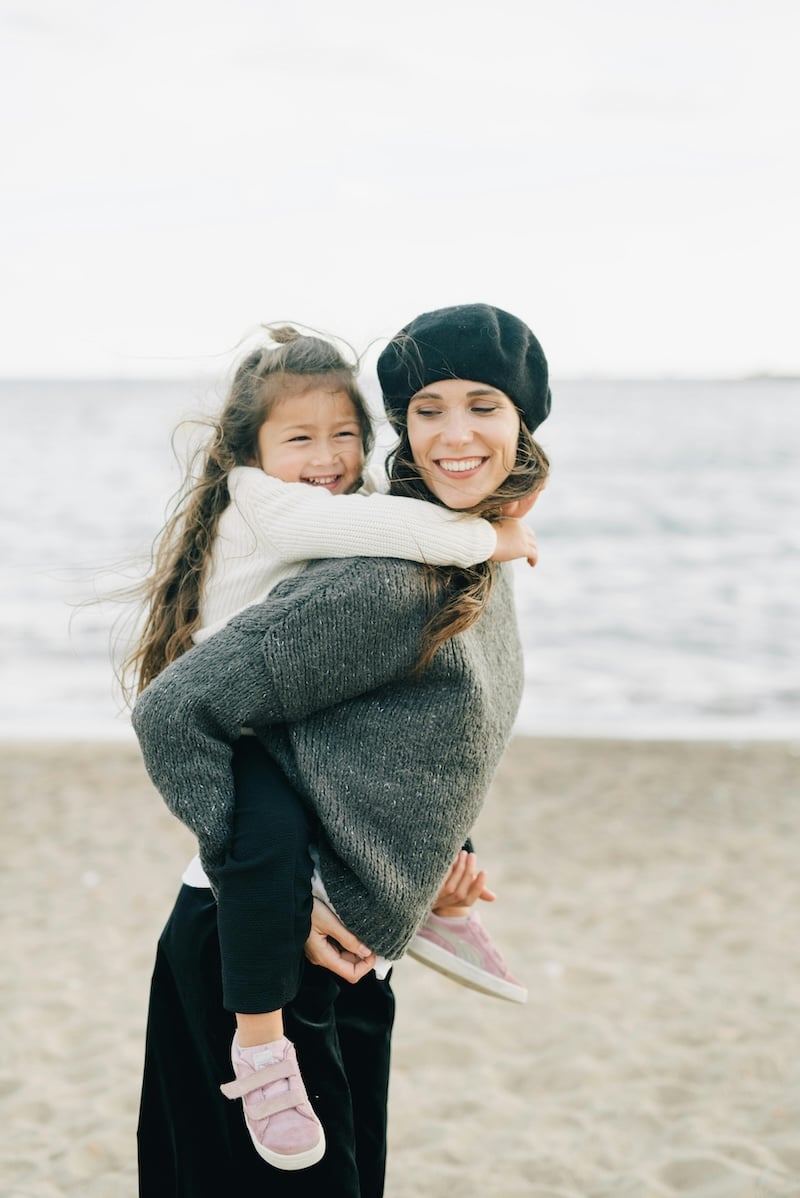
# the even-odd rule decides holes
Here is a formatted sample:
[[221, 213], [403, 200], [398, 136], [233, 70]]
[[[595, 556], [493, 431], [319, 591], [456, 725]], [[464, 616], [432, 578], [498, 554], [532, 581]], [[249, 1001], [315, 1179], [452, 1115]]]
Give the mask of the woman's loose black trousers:
[[219, 1198], [242, 1185], [265, 1198], [381, 1198], [394, 996], [304, 962], [286, 1035], [326, 1130], [319, 1164], [273, 1169], [254, 1151], [232, 1076], [234, 1016], [223, 1006], [217, 904], [182, 887], [158, 942], [139, 1111], [140, 1198]]

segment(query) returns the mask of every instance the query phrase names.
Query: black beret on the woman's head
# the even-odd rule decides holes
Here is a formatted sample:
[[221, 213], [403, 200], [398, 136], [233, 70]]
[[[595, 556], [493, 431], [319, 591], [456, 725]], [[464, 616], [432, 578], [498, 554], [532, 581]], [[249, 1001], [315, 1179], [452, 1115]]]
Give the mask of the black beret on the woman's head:
[[437, 308], [416, 316], [377, 359], [383, 406], [394, 425], [423, 387], [471, 379], [511, 399], [533, 432], [550, 411], [547, 359], [527, 325], [487, 303]]

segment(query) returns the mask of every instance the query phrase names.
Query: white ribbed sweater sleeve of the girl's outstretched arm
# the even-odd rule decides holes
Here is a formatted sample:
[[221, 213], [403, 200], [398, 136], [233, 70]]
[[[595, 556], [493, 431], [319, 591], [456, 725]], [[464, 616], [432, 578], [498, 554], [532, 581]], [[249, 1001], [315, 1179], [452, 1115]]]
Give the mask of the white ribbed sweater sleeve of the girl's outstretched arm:
[[495, 552], [486, 520], [398, 495], [331, 495], [281, 483], [253, 466], [231, 471], [234, 503], [265, 551], [283, 562], [321, 557], [401, 557], [429, 565], [474, 565]]

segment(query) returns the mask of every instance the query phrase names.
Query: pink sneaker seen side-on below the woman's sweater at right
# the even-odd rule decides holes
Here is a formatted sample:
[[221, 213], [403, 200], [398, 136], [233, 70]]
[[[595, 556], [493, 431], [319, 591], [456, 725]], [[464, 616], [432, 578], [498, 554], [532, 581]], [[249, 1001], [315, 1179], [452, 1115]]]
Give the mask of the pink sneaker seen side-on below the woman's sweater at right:
[[527, 990], [505, 968], [477, 910], [455, 919], [431, 912], [406, 952], [471, 990], [509, 1003], [528, 1002]]

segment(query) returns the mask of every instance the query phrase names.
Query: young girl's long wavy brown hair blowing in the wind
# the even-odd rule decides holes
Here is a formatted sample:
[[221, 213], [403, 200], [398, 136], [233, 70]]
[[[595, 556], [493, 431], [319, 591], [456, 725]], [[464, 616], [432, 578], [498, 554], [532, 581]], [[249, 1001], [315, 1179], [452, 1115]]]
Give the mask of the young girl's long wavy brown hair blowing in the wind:
[[128, 698], [192, 647], [217, 526], [230, 503], [228, 476], [235, 466], [257, 465], [259, 429], [275, 401], [313, 387], [345, 392], [356, 409], [364, 458], [372, 448], [372, 424], [356, 381], [358, 362], [349, 362], [331, 341], [291, 326], [268, 327], [268, 333], [277, 344], [253, 350], [236, 369], [223, 410], [194, 454], [156, 540], [152, 570], [134, 589], [144, 618], [121, 668]]

